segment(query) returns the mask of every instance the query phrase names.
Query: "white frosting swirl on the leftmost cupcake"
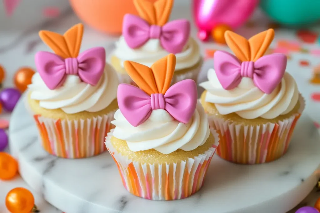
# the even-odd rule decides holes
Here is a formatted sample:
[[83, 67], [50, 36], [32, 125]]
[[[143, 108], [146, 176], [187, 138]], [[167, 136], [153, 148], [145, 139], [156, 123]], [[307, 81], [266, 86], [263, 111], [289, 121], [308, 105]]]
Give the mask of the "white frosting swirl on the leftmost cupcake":
[[68, 75], [63, 86], [51, 90], [37, 72], [28, 89], [31, 99], [40, 101], [40, 107], [50, 110], [60, 108], [65, 113], [73, 114], [103, 110], [116, 99], [118, 84], [116, 72], [106, 64], [103, 75], [95, 86], [81, 81], [76, 75]]

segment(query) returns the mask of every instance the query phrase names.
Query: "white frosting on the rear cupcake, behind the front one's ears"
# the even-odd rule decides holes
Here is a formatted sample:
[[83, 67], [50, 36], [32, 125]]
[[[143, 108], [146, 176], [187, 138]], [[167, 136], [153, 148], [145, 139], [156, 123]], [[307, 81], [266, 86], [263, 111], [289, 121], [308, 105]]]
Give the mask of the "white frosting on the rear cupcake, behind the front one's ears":
[[[123, 67], [124, 61], [134, 61], [150, 67], [157, 60], [167, 56], [169, 52], [164, 50], [159, 39], [150, 39], [142, 47], [131, 49], [121, 36], [116, 42], [114, 55], [120, 59]], [[200, 60], [199, 45], [193, 38], [190, 38], [182, 52], [175, 54], [177, 58], [176, 70], [182, 70], [196, 65]]]

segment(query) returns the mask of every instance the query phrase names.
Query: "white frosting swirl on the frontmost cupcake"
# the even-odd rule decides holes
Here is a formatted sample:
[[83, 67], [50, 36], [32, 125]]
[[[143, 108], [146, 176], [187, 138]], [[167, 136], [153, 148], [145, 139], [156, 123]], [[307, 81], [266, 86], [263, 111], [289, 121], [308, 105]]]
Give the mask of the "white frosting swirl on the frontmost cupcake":
[[153, 110], [150, 117], [140, 126], [132, 126], [117, 110], [116, 126], [113, 136], [127, 141], [128, 147], [136, 152], [155, 149], [163, 154], [169, 154], [177, 149], [190, 151], [205, 143], [210, 130], [207, 116], [201, 103], [188, 124], [180, 123], [165, 110]]

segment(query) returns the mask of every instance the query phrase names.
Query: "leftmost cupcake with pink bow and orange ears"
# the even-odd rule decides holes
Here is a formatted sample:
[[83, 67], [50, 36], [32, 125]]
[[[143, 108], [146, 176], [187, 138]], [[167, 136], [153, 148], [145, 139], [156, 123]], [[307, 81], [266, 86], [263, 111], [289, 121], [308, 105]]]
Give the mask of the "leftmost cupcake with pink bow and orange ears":
[[104, 152], [104, 138], [118, 109], [118, 78], [105, 62], [105, 49], [95, 47], [79, 54], [82, 34], [82, 24], [64, 35], [40, 31], [55, 54], [36, 53], [37, 72], [27, 91], [43, 148], [63, 158]]

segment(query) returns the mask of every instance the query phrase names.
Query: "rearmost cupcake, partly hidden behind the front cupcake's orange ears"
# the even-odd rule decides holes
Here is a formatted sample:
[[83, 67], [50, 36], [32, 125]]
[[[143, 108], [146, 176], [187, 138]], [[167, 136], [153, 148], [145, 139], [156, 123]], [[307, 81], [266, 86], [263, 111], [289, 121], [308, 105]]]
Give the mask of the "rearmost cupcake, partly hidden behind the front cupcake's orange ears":
[[197, 81], [202, 65], [199, 46], [190, 37], [188, 20], [168, 22], [173, 0], [133, 2], [139, 16], [124, 16], [122, 36], [116, 42], [116, 49], [110, 58], [120, 82], [133, 83], [124, 68], [124, 61], [130, 60], [150, 67], [169, 53], [175, 54], [177, 58], [172, 84], [184, 79]]

